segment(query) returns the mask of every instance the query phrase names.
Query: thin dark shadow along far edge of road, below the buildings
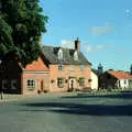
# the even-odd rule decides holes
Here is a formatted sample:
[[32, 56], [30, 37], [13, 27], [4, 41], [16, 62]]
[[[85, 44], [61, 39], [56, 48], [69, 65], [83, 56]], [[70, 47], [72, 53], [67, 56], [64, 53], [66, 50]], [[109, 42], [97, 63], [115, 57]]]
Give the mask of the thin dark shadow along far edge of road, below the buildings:
[[62, 98], [119, 98], [119, 99], [132, 99], [132, 91], [121, 91], [120, 94], [78, 94], [77, 96], [63, 96]]

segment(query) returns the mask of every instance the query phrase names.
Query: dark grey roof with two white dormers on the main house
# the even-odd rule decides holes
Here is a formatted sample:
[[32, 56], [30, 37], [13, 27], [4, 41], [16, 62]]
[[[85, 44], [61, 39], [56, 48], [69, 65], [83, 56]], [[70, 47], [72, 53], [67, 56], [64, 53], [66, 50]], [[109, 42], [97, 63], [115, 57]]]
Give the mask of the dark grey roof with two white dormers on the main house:
[[74, 61], [74, 53], [75, 50], [72, 48], [62, 48], [63, 50], [63, 61], [58, 59], [57, 52], [62, 47], [54, 47], [54, 46], [43, 46], [42, 52], [45, 56], [45, 58], [51, 63], [51, 64], [59, 64], [63, 62], [65, 65], [91, 65], [87, 61], [87, 58], [84, 56], [84, 54], [79, 51], [78, 52], [78, 61]]

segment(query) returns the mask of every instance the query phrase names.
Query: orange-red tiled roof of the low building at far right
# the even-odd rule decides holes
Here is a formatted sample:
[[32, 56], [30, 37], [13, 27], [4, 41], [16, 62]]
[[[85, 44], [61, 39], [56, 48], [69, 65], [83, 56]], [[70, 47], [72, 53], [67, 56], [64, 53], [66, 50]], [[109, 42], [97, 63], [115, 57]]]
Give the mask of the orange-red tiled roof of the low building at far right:
[[114, 72], [114, 70], [108, 70], [110, 75], [114, 76], [118, 79], [132, 79], [132, 75], [128, 72]]

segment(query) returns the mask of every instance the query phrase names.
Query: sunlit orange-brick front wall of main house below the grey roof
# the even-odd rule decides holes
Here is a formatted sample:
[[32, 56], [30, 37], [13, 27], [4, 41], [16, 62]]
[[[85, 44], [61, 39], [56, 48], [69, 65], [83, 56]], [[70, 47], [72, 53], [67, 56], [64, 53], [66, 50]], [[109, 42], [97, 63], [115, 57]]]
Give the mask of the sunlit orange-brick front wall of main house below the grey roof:
[[[68, 80], [68, 82], [65, 82], [65, 86], [63, 88], [57, 87], [57, 78], [65, 78]], [[88, 79], [90, 79], [90, 66], [86, 65], [84, 66], [84, 70], [79, 69], [79, 66], [74, 65], [74, 70], [70, 69], [70, 65], [65, 65], [63, 70], [58, 70], [58, 65], [50, 65], [50, 90], [51, 91], [67, 91], [69, 87], [69, 77], [75, 77], [76, 79], [76, 88], [82, 88], [78, 85], [78, 78], [85, 77], [85, 88], [89, 88], [90, 82]], [[52, 84], [51, 80], [54, 80]]]

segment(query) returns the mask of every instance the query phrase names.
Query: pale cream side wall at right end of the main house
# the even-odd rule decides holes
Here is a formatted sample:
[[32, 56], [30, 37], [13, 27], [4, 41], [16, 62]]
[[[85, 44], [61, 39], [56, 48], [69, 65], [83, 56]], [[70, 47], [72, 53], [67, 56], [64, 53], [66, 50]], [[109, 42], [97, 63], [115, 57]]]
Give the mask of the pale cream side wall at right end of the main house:
[[98, 89], [98, 75], [94, 70], [91, 70], [91, 89]]

